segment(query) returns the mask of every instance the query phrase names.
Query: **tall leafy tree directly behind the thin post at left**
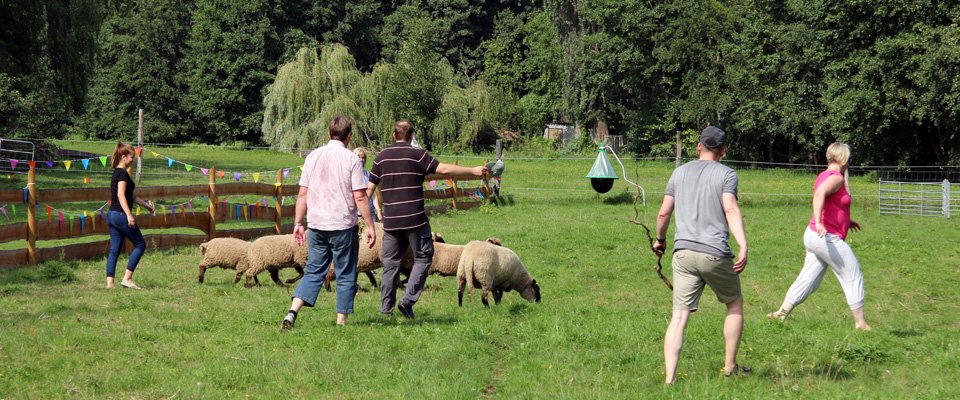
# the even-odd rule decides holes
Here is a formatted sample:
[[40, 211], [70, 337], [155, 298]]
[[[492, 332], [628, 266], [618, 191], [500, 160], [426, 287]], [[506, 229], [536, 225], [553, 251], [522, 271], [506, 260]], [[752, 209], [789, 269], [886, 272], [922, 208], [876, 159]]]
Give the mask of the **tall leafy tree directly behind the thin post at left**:
[[182, 98], [188, 86], [181, 61], [194, 3], [132, 1], [114, 11], [101, 30], [100, 54], [87, 102], [75, 130], [95, 138], [131, 141], [137, 109], [144, 109], [144, 139], [191, 139]]

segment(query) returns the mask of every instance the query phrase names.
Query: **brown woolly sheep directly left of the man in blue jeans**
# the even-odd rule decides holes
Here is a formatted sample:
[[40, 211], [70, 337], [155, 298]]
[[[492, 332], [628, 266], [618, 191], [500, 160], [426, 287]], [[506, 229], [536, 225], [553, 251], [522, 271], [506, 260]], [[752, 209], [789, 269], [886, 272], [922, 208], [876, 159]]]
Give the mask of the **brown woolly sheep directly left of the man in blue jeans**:
[[[252, 287], [250, 279], [256, 280], [257, 275], [264, 270], [270, 272], [270, 278], [279, 286], [279, 270], [293, 267], [299, 275], [287, 280], [294, 283], [303, 277], [303, 267], [307, 264], [307, 245], [298, 246], [293, 235], [270, 235], [254, 240], [247, 249], [247, 281], [244, 286]], [[257, 283], [259, 286], [259, 282]]]

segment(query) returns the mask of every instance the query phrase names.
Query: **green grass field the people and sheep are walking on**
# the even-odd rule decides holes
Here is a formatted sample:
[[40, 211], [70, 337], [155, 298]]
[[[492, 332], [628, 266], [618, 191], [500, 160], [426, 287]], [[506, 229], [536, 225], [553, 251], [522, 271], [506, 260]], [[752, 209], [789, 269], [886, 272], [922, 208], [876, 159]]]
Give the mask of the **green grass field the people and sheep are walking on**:
[[[540, 304], [510, 292], [484, 309], [474, 291], [458, 307], [456, 279], [432, 276], [416, 321], [381, 317], [379, 292], [368, 291], [350, 325], [337, 327], [334, 295], [324, 292], [281, 333], [291, 289], [244, 289], [220, 269], [197, 284], [194, 247], [149, 250], [136, 276], [143, 291], [103, 289], [103, 258], [24, 267], [0, 272], [0, 398], [960, 396], [956, 218], [880, 216], [876, 183], [855, 178], [853, 214], [864, 229], [849, 243], [874, 330], [853, 329], [831, 273], [782, 324], [765, 314], [800, 270], [814, 174], [740, 171], [750, 243], [740, 361], [754, 373], [721, 376], [724, 307], [708, 289], [687, 329], [679, 381], [666, 387], [671, 298], [642, 229], [628, 222], [629, 186], [590, 190], [590, 156], [510, 157], [507, 204], [437, 215], [432, 226], [448, 243], [500, 238], [540, 282]], [[639, 219], [653, 224], [672, 163], [627, 170], [648, 190]]]

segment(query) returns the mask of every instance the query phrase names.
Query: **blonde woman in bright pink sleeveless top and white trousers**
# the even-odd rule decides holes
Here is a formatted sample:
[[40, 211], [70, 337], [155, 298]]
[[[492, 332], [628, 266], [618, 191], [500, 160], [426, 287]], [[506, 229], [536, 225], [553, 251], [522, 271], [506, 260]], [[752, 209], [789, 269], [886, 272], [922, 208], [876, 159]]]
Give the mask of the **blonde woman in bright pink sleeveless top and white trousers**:
[[834, 143], [827, 148], [827, 170], [817, 176], [813, 185], [813, 215], [803, 234], [807, 257], [797, 280], [790, 286], [780, 309], [767, 316], [785, 321], [793, 308], [810, 296], [827, 272], [827, 266], [840, 280], [840, 286], [853, 313], [857, 329], [870, 330], [863, 315], [863, 273], [853, 250], [844, 239], [847, 231], [860, 230], [850, 219], [850, 193], [844, 185], [844, 174], [850, 162], [850, 147]]

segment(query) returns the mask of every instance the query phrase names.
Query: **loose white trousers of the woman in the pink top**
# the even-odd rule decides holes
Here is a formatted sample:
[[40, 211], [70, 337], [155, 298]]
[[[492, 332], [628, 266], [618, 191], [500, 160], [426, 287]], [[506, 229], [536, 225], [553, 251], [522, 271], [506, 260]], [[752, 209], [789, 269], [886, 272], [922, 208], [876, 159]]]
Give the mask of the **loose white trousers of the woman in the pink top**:
[[851, 310], [863, 307], [863, 272], [853, 250], [840, 236], [826, 234], [819, 237], [809, 227], [804, 229], [803, 245], [807, 249], [807, 258], [797, 280], [790, 285], [786, 301], [794, 306], [800, 305], [811, 293], [820, 287], [827, 266], [840, 281], [843, 294]]

